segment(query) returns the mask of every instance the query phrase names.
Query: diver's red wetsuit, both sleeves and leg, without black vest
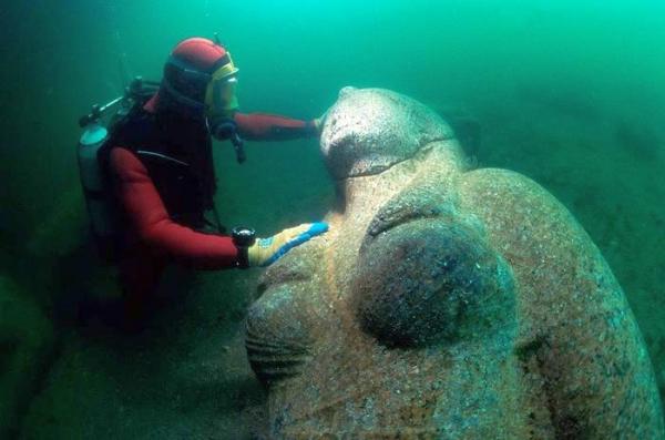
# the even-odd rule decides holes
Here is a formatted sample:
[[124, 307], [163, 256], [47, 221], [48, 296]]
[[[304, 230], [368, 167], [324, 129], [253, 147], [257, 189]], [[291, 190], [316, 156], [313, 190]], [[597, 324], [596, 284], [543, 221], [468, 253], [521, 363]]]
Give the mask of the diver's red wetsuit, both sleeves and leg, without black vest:
[[[154, 111], [151, 102], [145, 110]], [[313, 121], [298, 121], [268, 114], [236, 113], [238, 133], [247, 140], [272, 141], [311, 136]], [[196, 269], [235, 267], [237, 249], [229, 236], [196, 232], [171, 219], [146, 167], [139, 157], [122, 145], [111, 150], [109, 167], [114, 193], [129, 225], [123, 237], [120, 262], [123, 293], [130, 318], [143, 313], [146, 296], [156, 287], [168, 263]]]

